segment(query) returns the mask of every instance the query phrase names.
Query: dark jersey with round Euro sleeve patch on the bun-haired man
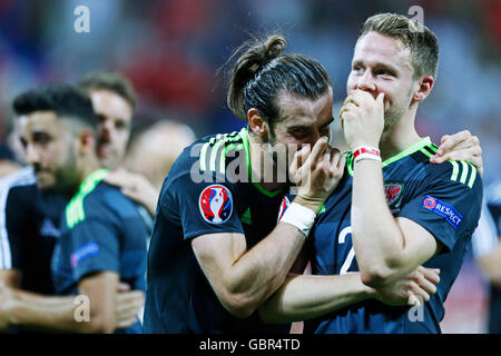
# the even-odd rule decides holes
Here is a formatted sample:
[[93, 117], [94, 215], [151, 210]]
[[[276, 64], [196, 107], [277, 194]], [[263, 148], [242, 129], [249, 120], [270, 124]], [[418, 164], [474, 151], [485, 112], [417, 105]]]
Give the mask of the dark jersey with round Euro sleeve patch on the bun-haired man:
[[200, 235], [239, 233], [250, 249], [274, 229], [284, 191], [249, 182], [249, 171], [246, 129], [193, 144], [171, 167], [148, 251], [145, 333], [288, 332], [289, 325], [262, 324], [257, 313], [229, 314], [191, 248]]

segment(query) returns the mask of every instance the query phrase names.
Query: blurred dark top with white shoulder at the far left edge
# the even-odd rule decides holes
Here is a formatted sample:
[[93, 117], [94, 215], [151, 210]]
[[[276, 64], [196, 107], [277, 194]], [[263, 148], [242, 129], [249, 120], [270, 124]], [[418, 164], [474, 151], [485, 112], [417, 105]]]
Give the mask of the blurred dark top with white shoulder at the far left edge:
[[50, 260], [68, 199], [41, 191], [27, 167], [0, 180], [0, 269], [21, 273], [21, 289], [53, 294]]

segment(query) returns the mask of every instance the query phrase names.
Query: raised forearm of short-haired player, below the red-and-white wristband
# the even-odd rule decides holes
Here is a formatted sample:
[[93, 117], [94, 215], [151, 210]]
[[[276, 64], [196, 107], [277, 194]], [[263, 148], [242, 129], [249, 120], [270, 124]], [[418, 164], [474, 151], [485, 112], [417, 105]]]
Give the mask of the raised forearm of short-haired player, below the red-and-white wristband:
[[364, 159], [355, 164], [351, 214], [362, 280], [374, 286], [399, 278], [404, 239], [386, 205], [379, 161]]

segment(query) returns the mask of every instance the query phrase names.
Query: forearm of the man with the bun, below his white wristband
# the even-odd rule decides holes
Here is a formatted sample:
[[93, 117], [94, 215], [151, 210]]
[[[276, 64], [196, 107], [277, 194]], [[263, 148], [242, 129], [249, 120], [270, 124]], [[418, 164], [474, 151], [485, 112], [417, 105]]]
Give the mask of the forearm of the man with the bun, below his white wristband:
[[250, 315], [284, 283], [306, 237], [295, 226], [281, 222], [233, 266], [230, 293], [248, 306]]

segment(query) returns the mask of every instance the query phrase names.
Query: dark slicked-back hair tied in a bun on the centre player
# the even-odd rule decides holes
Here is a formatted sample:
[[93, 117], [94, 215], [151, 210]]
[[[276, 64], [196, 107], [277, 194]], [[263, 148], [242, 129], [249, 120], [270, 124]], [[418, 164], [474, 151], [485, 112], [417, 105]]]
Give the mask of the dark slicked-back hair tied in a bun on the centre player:
[[234, 52], [232, 58], [243, 52], [233, 68], [227, 95], [235, 116], [245, 120], [247, 111], [256, 108], [273, 127], [279, 115], [279, 91], [315, 100], [332, 88], [326, 70], [316, 60], [285, 55], [286, 46], [283, 36], [272, 34], [247, 41]]

